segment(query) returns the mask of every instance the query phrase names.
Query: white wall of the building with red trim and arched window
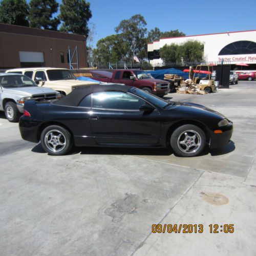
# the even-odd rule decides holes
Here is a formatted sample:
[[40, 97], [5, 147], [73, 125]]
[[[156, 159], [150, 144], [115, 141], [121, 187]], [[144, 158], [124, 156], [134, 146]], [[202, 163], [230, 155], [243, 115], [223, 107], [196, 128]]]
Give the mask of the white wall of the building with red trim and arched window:
[[[226, 45], [231, 42], [247, 40], [256, 42], [256, 30], [253, 31], [241, 31], [241, 32], [227, 32], [219, 34], [208, 35], [196, 35], [196, 36], [184, 36], [174, 38], [161, 38], [159, 41], [154, 41], [153, 44], [148, 44], [148, 51], [159, 50], [164, 45], [182, 44], [188, 40], [198, 40], [204, 44], [204, 56], [206, 61], [221, 61], [224, 58], [225, 61], [230, 61], [233, 64], [244, 63], [256, 63], [256, 54], [241, 54], [241, 55], [221, 55], [219, 52]], [[161, 59], [151, 60], [151, 63], [162, 62]]]

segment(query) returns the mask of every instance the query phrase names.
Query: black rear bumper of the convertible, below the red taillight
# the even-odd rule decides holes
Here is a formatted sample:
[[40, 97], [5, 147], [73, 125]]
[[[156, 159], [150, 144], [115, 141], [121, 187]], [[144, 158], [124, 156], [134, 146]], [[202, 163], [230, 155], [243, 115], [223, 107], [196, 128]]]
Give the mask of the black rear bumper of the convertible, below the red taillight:
[[30, 117], [20, 117], [19, 132], [24, 140], [37, 143], [39, 141], [37, 131], [38, 123], [31, 121]]

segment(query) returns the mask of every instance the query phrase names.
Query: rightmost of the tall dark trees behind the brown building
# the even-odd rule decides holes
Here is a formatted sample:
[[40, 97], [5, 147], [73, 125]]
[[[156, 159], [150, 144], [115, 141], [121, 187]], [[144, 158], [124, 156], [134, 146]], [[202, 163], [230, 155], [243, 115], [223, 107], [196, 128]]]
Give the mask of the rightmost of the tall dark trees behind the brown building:
[[60, 31], [85, 35], [89, 34], [88, 20], [92, 17], [90, 3], [85, 0], [62, 0], [59, 18]]

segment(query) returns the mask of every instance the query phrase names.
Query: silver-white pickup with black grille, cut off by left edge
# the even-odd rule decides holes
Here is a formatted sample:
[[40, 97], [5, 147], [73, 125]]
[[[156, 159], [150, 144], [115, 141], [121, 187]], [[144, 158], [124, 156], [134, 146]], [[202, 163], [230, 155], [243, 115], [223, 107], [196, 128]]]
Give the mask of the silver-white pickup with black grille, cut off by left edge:
[[0, 110], [10, 122], [17, 122], [28, 99], [58, 99], [60, 93], [37, 84], [28, 76], [0, 73]]

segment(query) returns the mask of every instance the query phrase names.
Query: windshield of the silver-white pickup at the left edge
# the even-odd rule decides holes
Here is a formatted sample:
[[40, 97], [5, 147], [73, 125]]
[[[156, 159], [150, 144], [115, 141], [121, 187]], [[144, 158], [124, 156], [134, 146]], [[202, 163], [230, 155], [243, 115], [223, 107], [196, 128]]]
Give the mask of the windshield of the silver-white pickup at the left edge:
[[0, 76], [0, 85], [3, 88], [32, 87], [37, 84], [25, 75], [5, 75]]

